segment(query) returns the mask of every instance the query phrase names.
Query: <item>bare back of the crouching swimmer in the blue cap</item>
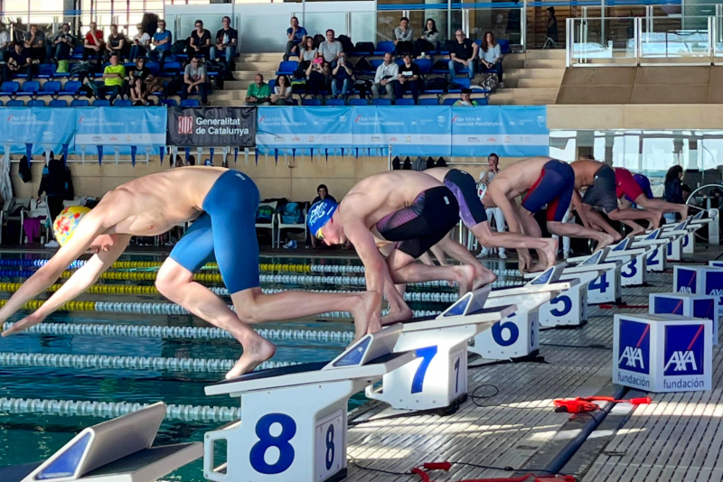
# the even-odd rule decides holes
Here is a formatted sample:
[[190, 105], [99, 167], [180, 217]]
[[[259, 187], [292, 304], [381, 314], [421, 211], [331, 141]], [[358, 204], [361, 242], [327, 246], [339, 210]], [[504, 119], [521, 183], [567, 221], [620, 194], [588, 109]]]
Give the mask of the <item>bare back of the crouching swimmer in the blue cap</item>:
[[422, 191], [441, 185], [420, 171], [380, 172], [357, 183], [344, 196], [339, 210], [344, 217], [362, 218], [371, 228], [381, 218], [408, 207]]

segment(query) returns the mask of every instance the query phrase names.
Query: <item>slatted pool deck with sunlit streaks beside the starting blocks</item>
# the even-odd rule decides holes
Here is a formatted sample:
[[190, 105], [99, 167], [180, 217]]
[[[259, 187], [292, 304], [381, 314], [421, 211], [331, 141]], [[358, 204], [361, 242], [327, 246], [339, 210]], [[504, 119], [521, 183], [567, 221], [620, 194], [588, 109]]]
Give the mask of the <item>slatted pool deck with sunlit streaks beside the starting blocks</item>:
[[[718, 246], [699, 246], [691, 261], [706, 262], [723, 256]], [[494, 470], [453, 465], [437, 470], [439, 482], [477, 477], [512, 477], [554, 465], [591, 416], [556, 413], [556, 398], [612, 395], [613, 315], [647, 312], [648, 294], [670, 291], [669, 273], [649, 273], [650, 286], [623, 288], [623, 301], [646, 308], [591, 306], [589, 321], [581, 329], [549, 329], [540, 333], [544, 363], [522, 362], [469, 369], [469, 394], [490, 395], [468, 399], [458, 412], [408, 416], [368, 422], [349, 430], [349, 457], [359, 466], [406, 472], [424, 462], [466, 462], [515, 470]], [[553, 345], [568, 345], [559, 347]], [[600, 348], [590, 348], [590, 345]], [[576, 347], [576, 348], [572, 348]], [[723, 354], [713, 348], [714, 375], [710, 392], [651, 394], [653, 403], [619, 403], [559, 471], [583, 482], [692, 481], [723, 479]], [[480, 359], [471, 359], [476, 365]], [[493, 385], [493, 386], [492, 386]], [[496, 390], [499, 393], [494, 394]], [[476, 392], [475, 392], [476, 391]], [[631, 390], [630, 396], [644, 396]], [[356, 419], [374, 419], [399, 413], [379, 406]], [[350, 464], [347, 480], [407, 481], [408, 475], [375, 472]]]

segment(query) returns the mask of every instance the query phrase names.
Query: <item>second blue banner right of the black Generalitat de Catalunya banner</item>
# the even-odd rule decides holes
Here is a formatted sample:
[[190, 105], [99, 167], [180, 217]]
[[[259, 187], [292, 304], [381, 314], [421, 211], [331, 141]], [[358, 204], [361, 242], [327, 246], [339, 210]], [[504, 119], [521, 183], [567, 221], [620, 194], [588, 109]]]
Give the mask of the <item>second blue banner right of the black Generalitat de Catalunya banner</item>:
[[451, 111], [446, 106], [354, 107], [354, 146], [390, 145], [395, 155], [449, 156]]

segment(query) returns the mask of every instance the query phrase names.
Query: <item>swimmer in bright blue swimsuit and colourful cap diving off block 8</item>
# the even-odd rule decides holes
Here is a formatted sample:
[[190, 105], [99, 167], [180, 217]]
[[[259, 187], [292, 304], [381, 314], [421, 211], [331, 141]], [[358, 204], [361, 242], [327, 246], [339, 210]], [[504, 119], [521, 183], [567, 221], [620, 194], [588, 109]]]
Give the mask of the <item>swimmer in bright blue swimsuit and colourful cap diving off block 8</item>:
[[[328, 311], [351, 312], [358, 337], [369, 331], [368, 325], [380, 324], [381, 295], [375, 292], [261, 292], [255, 227], [258, 189], [242, 172], [214, 167], [163, 171], [109, 191], [92, 211], [73, 208], [56, 219], [61, 249], [0, 310], [0, 325], [45, 292], [80, 255], [88, 250], [93, 255], [41, 308], [3, 336], [42, 322], [85, 292], [123, 254], [131, 236], [158, 236], [186, 221], [194, 222], [161, 266], [155, 286], [169, 300], [239, 340], [243, 355], [227, 378], [253, 370], [276, 351], [251, 325]], [[236, 312], [193, 281], [193, 272], [214, 258]]]

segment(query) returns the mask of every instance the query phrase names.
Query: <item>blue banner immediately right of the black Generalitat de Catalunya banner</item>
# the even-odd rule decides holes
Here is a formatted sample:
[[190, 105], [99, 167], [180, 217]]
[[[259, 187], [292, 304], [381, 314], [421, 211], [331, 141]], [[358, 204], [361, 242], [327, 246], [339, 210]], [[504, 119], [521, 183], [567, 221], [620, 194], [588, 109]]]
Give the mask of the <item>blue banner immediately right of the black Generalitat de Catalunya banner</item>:
[[258, 107], [257, 148], [275, 149], [352, 147], [352, 107]]

